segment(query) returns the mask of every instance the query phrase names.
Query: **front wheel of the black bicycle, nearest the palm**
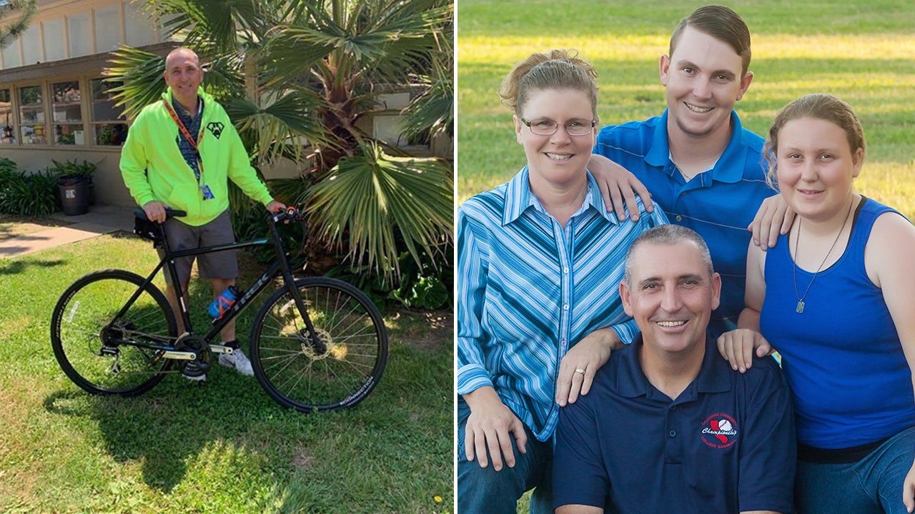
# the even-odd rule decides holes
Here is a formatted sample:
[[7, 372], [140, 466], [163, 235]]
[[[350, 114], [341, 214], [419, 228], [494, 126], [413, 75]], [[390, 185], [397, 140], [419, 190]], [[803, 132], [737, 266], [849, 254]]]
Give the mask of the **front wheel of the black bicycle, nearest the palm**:
[[387, 363], [382, 313], [359, 289], [338, 279], [307, 277], [296, 280], [296, 287], [326, 350], [310, 344], [296, 302], [282, 287], [254, 317], [254, 376], [276, 402], [300, 412], [352, 407], [378, 385]]

